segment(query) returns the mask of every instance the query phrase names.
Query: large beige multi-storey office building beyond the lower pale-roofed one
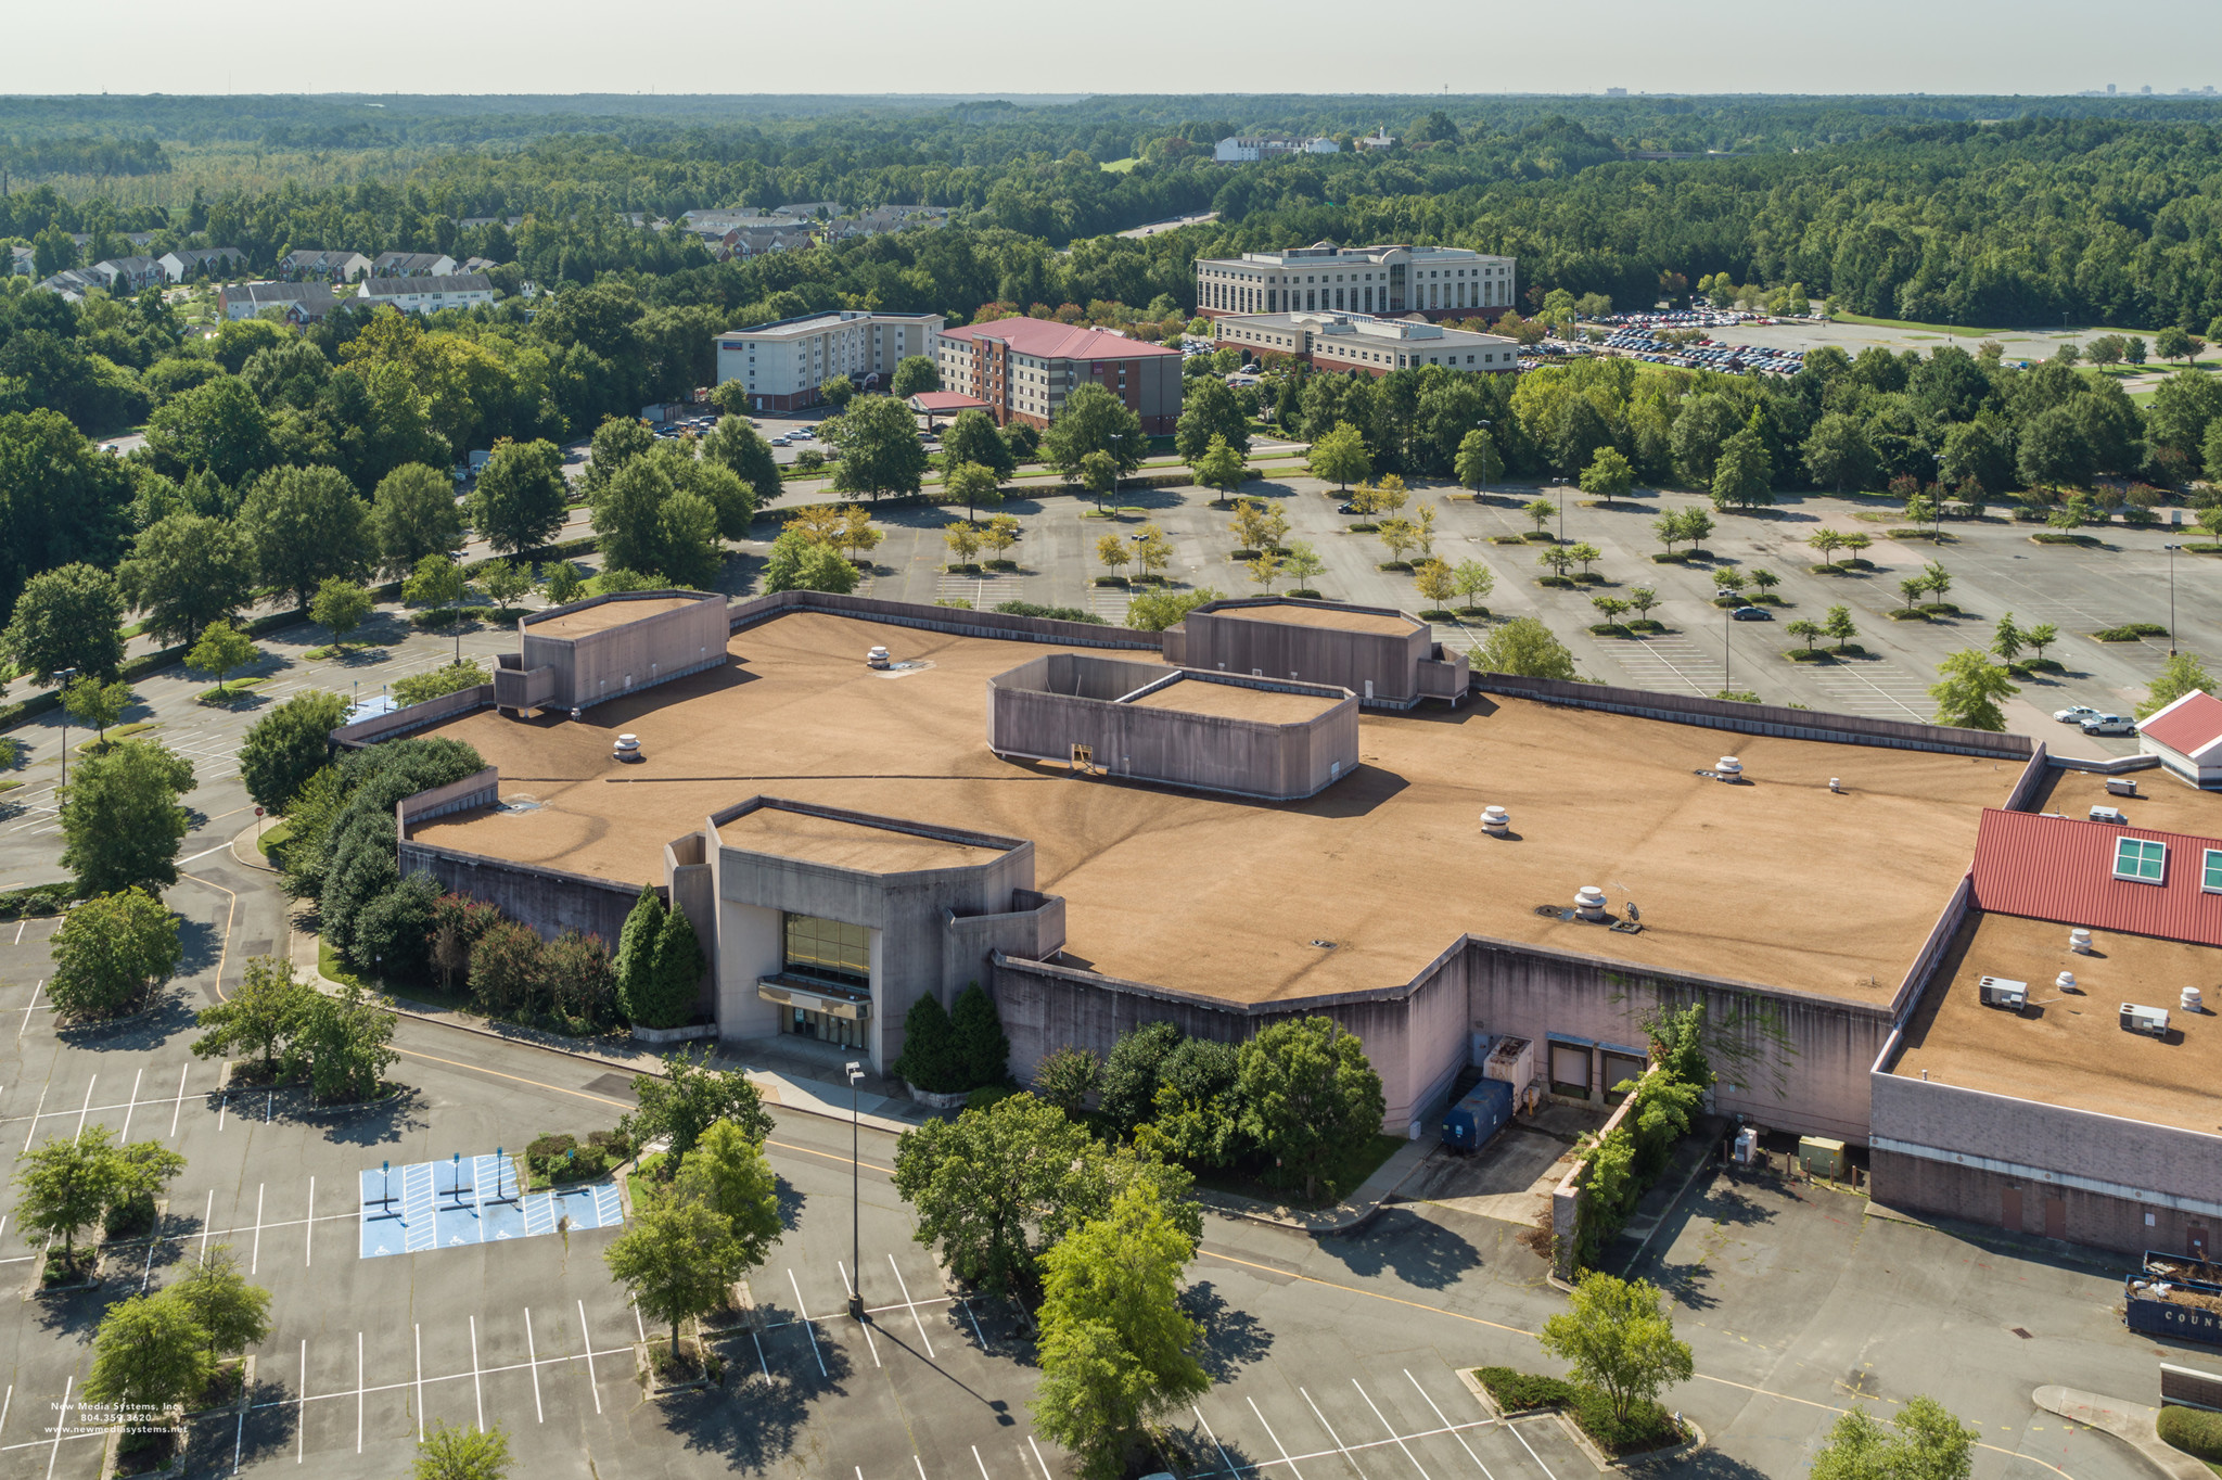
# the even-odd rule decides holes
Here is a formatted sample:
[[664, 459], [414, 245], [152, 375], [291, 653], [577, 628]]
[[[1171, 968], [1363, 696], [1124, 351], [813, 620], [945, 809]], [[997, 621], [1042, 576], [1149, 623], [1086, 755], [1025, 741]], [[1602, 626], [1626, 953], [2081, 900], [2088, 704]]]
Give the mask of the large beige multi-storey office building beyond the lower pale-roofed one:
[[1335, 247], [1195, 260], [1195, 309], [1220, 313], [1487, 313], [1513, 307], [1511, 258], [1464, 247]]

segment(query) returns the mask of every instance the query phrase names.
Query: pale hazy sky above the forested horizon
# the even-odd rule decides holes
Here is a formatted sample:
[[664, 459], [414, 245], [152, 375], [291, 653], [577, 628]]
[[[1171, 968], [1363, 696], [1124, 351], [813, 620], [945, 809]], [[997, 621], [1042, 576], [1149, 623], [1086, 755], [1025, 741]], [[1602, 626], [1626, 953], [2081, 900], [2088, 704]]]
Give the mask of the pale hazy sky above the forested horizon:
[[2071, 93], [2222, 87], [2222, 4], [842, 0], [396, 11], [13, 0], [11, 93]]

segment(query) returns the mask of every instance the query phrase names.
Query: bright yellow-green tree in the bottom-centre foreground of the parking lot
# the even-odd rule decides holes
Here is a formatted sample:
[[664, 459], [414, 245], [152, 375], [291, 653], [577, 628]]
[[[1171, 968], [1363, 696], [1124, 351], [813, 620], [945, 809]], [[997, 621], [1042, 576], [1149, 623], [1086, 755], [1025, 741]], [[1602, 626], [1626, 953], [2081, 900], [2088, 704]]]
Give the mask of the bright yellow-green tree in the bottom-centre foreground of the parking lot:
[[1042, 1384], [1031, 1407], [1091, 1480], [1115, 1480], [1144, 1422], [1211, 1389], [1193, 1356], [1202, 1329], [1180, 1309], [1193, 1258], [1195, 1240], [1147, 1184], [1042, 1256]]

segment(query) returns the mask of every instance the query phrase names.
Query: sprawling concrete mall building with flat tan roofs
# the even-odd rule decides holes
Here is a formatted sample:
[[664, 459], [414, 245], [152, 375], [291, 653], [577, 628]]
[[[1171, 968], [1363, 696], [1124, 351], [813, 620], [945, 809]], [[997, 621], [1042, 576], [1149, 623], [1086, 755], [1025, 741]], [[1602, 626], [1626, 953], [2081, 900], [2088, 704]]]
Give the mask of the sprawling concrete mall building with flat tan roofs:
[[[2222, 727], [2195, 709], [2162, 740]], [[887, 1071], [969, 982], [1020, 1082], [1318, 1013], [1404, 1133], [1500, 1049], [1524, 1100], [1609, 1107], [1647, 1020], [1704, 1004], [1713, 1109], [1849, 1142], [1880, 1202], [2222, 1229], [2222, 798], [2158, 756], [1473, 673], [1389, 609], [1144, 633], [811, 591], [533, 613], [491, 684], [333, 738], [413, 733], [487, 769], [400, 802], [404, 873], [607, 942], [662, 891], [740, 1051]]]

